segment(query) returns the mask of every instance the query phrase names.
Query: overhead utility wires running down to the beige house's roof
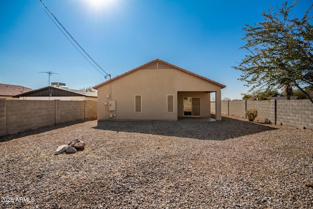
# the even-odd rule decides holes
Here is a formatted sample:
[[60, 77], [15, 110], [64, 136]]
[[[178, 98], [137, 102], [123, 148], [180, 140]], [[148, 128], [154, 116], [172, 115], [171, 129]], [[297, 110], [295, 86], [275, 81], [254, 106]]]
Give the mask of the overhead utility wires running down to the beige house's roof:
[[100, 72], [102, 75], [104, 75], [106, 78], [108, 76], [111, 77], [110, 74], [108, 74], [106, 71], [104, 71], [90, 56], [89, 54], [84, 50], [84, 48], [82, 46], [80, 46], [77, 41], [69, 34], [69, 32], [65, 29], [65, 27], [58, 21], [58, 19], [53, 15], [53, 13], [48, 9], [48, 7], [45, 5], [45, 3], [40, 0], [42, 2], [42, 4], [45, 6], [45, 8], [48, 10], [48, 12], [53, 16], [53, 18], [62, 26], [62, 28], [67, 32], [67, 34], [70, 36], [70, 38], [85, 52], [85, 54], [93, 61], [93, 63], [95, 63], [106, 75], [104, 75], [100, 70], [98, 70], [88, 59], [87, 57], [72, 43], [72, 41], [67, 37], [67, 35], [63, 32], [63, 30], [59, 27], [59, 25], [57, 23], [54, 22], [54, 20], [51, 18], [51, 16], [45, 11], [45, 8], [40, 4], [40, 2], [37, 0], [37, 2], [39, 3], [39, 5], [44, 9], [45, 13], [49, 16], [49, 18], [53, 21], [53, 23], [55, 25], [57, 25], [57, 27], [61, 30], [61, 32], [65, 35], [65, 37], [67, 37], [67, 40], [79, 51], [79, 53], [81, 53], [81, 55], [84, 56], [84, 58], [90, 63], [90, 65], [93, 66], [93, 68], [95, 68], [98, 72]]

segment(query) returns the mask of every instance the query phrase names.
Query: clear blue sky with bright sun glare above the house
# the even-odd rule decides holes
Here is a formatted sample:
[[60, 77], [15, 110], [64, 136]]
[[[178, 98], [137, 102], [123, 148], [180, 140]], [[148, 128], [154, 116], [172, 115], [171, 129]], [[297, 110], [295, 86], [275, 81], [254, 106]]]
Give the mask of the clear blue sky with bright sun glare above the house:
[[[156, 58], [227, 87], [240, 99], [248, 88], [236, 66], [246, 51], [242, 28], [262, 21], [269, 4], [285, 0], [43, 0], [75, 40], [112, 77]], [[291, 3], [292, 1], [290, 1]], [[302, 17], [310, 0], [292, 13]], [[70, 89], [106, 79], [70, 44], [36, 0], [0, 0], [0, 83]]]

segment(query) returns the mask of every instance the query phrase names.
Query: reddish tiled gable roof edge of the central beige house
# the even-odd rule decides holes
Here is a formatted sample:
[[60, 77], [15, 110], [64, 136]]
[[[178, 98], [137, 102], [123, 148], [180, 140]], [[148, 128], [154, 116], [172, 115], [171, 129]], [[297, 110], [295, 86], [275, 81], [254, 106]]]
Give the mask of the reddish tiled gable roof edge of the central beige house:
[[139, 66], [139, 67], [137, 67], [137, 68], [134, 68], [133, 70], [129, 70], [129, 71], [123, 73], [123, 74], [120, 74], [120, 75], [118, 75], [118, 76], [116, 76], [116, 77], [114, 77], [114, 78], [112, 78], [112, 79], [110, 79], [110, 80], [108, 80], [108, 81], [105, 81], [105, 82], [103, 82], [103, 83], [101, 83], [101, 84], [98, 84], [98, 85], [96, 85], [96, 86], [94, 86], [94, 87], [92, 87], [92, 88], [93, 88], [93, 89], [97, 89], [97, 88], [99, 88], [99, 87], [102, 86], [102, 85], [105, 85], [105, 84], [107, 84], [107, 83], [110, 83], [111, 81], [114, 81], [114, 80], [116, 80], [116, 79], [118, 79], [118, 78], [120, 78], [120, 77], [123, 77], [123, 76], [125, 76], [125, 75], [128, 75], [128, 74], [130, 74], [130, 73], [132, 73], [132, 72], [134, 72], [134, 71], [136, 71], [136, 70], [145, 68], [145, 67], [147, 67], [147, 66], [149, 66], [149, 65], [151, 65], [151, 64], [153, 64], [153, 63], [156, 63], [156, 62], [163, 63], [164, 65], [168, 65], [168, 66], [170, 66], [170, 67], [172, 67], [172, 68], [175, 68], [175, 69], [177, 69], [177, 70], [181, 70], [181, 71], [186, 72], [186, 73], [188, 73], [188, 74], [190, 74], [190, 75], [196, 76], [196, 77], [201, 78], [201, 79], [203, 79], [203, 80], [205, 80], [205, 81], [208, 81], [208, 82], [210, 82], [210, 83], [216, 84], [216, 85], [220, 86], [222, 89], [224, 89], [224, 88], [226, 87], [225, 85], [223, 85], [223, 84], [221, 84], [221, 83], [218, 83], [218, 82], [216, 82], [216, 81], [213, 81], [213, 80], [211, 80], [211, 79], [208, 79], [208, 78], [206, 78], [206, 77], [203, 77], [203, 76], [201, 76], [201, 75], [198, 75], [198, 74], [196, 74], [196, 73], [194, 73], [194, 72], [191, 72], [191, 71], [189, 71], [189, 70], [182, 69], [182, 68], [180, 68], [180, 67], [178, 67], [178, 66], [175, 66], [175, 65], [173, 65], [173, 64], [171, 64], [171, 63], [165, 62], [165, 61], [160, 60], [160, 59], [155, 59], [155, 60], [152, 60], [152, 61], [150, 61], [150, 62], [147, 62], [146, 64], [143, 64], [143, 65], [141, 65], [141, 66]]

